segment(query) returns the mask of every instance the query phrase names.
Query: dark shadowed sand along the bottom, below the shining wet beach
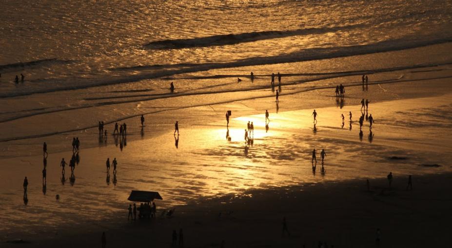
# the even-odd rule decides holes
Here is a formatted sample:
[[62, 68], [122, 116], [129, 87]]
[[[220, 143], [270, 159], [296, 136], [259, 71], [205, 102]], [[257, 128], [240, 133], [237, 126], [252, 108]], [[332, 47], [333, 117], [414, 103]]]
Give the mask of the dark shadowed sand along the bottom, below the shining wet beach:
[[[191, 202], [177, 207], [172, 218], [118, 226], [106, 220], [2, 247], [100, 247], [102, 231], [107, 247], [171, 247], [171, 232], [180, 228], [184, 247], [221, 247], [223, 240], [224, 247], [316, 247], [318, 241], [375, 247], [377, 228], [381, 247], [444, 246], [450, 242], [451, 179], [451, 174], [414, 177], [413, 190], [406, 190], [406, 175], [394, 175], [391, 189], [380, 178], [370, 181], [370, 191], [365, 180], [251, 190]], [[282, 236], [283, 217], [290, 236]]]

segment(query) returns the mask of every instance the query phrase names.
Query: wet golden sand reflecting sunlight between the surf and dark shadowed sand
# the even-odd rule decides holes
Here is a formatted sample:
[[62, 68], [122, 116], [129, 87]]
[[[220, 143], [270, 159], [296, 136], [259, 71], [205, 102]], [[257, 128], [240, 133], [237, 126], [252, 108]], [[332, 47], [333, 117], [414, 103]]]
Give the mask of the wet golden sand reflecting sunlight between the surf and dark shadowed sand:
[[[415, 77], [438, 77], [437, 73], [419, 72]], [[447, 76], [449, 71], [445, 70], [442, 73]], [[340, 99], [336, 101], [331, 89], [296, 93], [296, 90], [286, 91], [283, 88], [279, 106], [275, 106], [272, 97], [195, 107], [188, 113], [169, 112], [165, 114], [168, 120], [177, 116], [181, 123], [177, 147], [173, 132], [168, 132], [173, 129], [173, 124], [163, 125], [166, 131], [151, 138], [147, 135], [152, 130], [146, 129], [143, 131], [144, 134], [141, 134], [137, 124], [129, 125], [129, 135], [134, 137], [131, 139], [134, 141], [124, 146], [122, 152], [119, 149], [120, 145], [116, 146], [112, 138], [109, 138], [106, 144], [102, 142], [98, 147], [81, 150], [80, 164], [74, 173], [76, 179], [72, 183], [73, 186], [69, 180], [69, 168], [66, 168], [66, 181], [63, 185], [58, 167], [59, 160], [62, 157], [68, 160], [72, 153], [51, 152], [47, 159], [48, 179], [45, 195], [41, 184], [42, 156], [1, 159], [3, 180], [0, 181], [0, 187], [3, 190], [0, 197], [3, 204], [0, 219], [6, 224], [0, 228], [0, 240], [4, 242], [13, 238], [24, 238], [31, 242], [27, 244], [30, 247], [44, 245], [58, 247], [58, 244], [61, 244], [59, 242], [67, 243], [67, 240], [75, 240], [71, 242], [74, 247], [90, 246], [94, 244], [90, 242], [100, 240], [98, 232], [108, 230], [109, 240], [110, 237], [113, 240], [118, 238], [114, 241], [117, 247], [122, 247], [125, 243], [121, 242], [128, 242], [126, 240], [129, 238], [138, 238], [137, 244], [149, 241], [151, 244], [166, 246], [166, 241], [171, 237], [171, 230], [179, 228], [180, 225], [186, 233], [187, 247], [217, 247], [221, 239], [226, 241], [226, 247], [249, 247], [251, 244], [262, 246], [269, 244], [277, 247], [285, 243], [271, 243], [268, 241], [271, 238], [260, 239], [260, 237], [271, 235], [279, 237], [281, 216], [286, 215], [290, 230], [292, 226], [300, 228], [294, 227], [295, 237], [281, 240], [288, 242], [287, 246], [291, 246], [291, 242], [295, 242], [293, 244], [297, 246], [302, 244], [300, 242], [313, 246], [313, 242], [319, 239], [329, 244], [356, 244], [353, 246], [359, 247], [359, 244], [372, 244], [376, 226], [382, 228], [384, 234], [382, 237], [391, 235], [389, 239], [393, 244], [397, 242], [406, 244], [411, 241], [413, 244], [422, 244], [414, 242], [416, 239], [396, 240], [395, 233], [398, 232], [391, 229], [390, 224], [385, 226], [385, 223], [378, 222], [386, 215], [398, 214], [401, 216], [395, 221], [394, 227], [409, 228], [414, 226], [413, 222], [404, 221], [406, 214], [411, 212], [397, 208], [383, 211], [381, 206], [379, 208], [371, 204], [375, 200], [369, 195], [376, 193], [363, 194], [361, 190], [365, 178], [385, 177], [392, 171], [396, 178], [402, 179], [397, 180], [401, 184], [398, 184], [396, 191], [388, 193], [387, 198], [394, 200], [388, 206], [400, 205], [403, 209], [403, 206], [415, 205], [413, 216], [416, 216], [415, 211], [421, 211], [424, 205], [428, 205], [425, 208], [437, 209], [434, 213], [440, 214], [444, 213], [443, 206], [450, 203], [439, 188], [447, 184], [442, 185], [441, 182], [449, 180], [449, 174], [420, 176], [451, 172], [449, 163], [451, 146], [447, 138], [451, 130], [449, 79], [444, 77], [422, 81], [414, 79], [397, 84], [370, 85], [368, 91], [363, 91], [361, 86], [348, 87], [344, 102]], [[372, 100], [369, 107], [369, 114], [373, 113], [375, 118], [373, 126], [375, 136], [372, 142], [368, 138], [370, 131], [368, 123], [363, 127], [362, 140], [359, 139], [359, 125], [356, 122], [352, 123], [351, 130], [348, 118], [345, 126], [341, 126], [340, 113], [346, 115], [352, 111], [354, 120], [357, 120], [360, 113], [360, 106], [357, 104], [364, 96]], [[263, 113], [266, 108], [270, 111], [271, 119], [268, 131], [264, 128]], [[315, 130], [311, 117], [313, 108], [319, 113]], [[227, 109], [233, 109], [229, 127], [231, 142], [225, 137], [227, 129], [224, 113]], [[207, 110], [208, 118], [200, 117], [200, 113], [205, 114]], [[195, 118], [197, 121], [185, 124], [183, 121], [185, 118], [191, 119], [184, 114], [191, 113], [197, 113]], [[130, 120], [139, 123], [136, 119], [138, 118]], [[211, 119], [222, 121], [209, 122]], [[247, 121], [253, 121], [255, 124], [255, 140], [248, 148], [243, 141], [243, 129]], [[87, 129], [86, 133], [92, 139], [96, 139], [96, 131], [94, 128]], [[70, 139], [72, 136], [76, 134], [68, 134], [66, 138]], [[40, 144], [41, 141], [37, 139], [27, 142]], [[310, 154], [314, 148], [325, 148], [327, 151], [325, 161], [327, 172], [324, 176], [320, 174], [320, 163], [317, 164], [316, 174], [312, 173]], [[390, 159], [394, 156], [405, 159]], [[118, 159], [116, 182], [112, 174], [108, 176], [105, 173], [107, 157]], [[439, 164], [440, 167], [419, 166], [420, 164]], [[414, 182], [416, 192], [414, 198], [407, 198], [405, 194], [408, 193], [401, 191], [408, 174], [416, 175], [415, 178], [424, 178], [422, 179], [424, 181]], [[29, 201], [26, 206], [21, 197], [24, 175], [28, 176], [30, 181]], [[346, 182], [339, 182], [343, 180]], [[416, 185], [419, 182], [421, 185], [430, 186], [418, 189]], [[308, 187], [315, 183], [318, 185]], [[300, 184], [302, 186], [299, 186]], [[386, 182], [383, 179], [376, 182], [375, 186], [377, 185], [384, 187]], [[377, 192], [378, 187], [373, 191]], [[353, 188], [359, 190], [347, 190]], [[125, 209], [129, 204], [126, 198], [133, 189], [159, 191], [164, 198], [162, 202], [157, 201], [159, 208], [187, 203], [188, 205], [177, 207], [177, 215], [172, 219], [163, 218], [156, 223], [149, 223], [149, 226], [138, 223], [123, 226], [125, 218], [120, 215], [126, 216]], [[291, 189], [289, 193], [286, 192], [287, 189]], [[248, 192], [250, 190], [260, 193], [250, 193]], [[418, 190], [421, 193], [417, 193]], [[226, 198], [217, 199], [231, 193], [241, 195], [241, 198], [234, 198], [230, 204], [221, 203], [229, 202], [225, 200]], [[55, 200], [56, 194], [61, 195], [59, 201]], [[249, 194], [255, 196], [246, 197]], [[262, 198], [257, 197], [259, 194], [262, 194]], [[287, 198], [283, 197], [286, 201], [281, 200], [281, 195], [287, 195]], [[432, 198], [429, 198], [430, 196]], [[343, 202], [343, 197], [350, 197], [350, 202]], [[216, 199], [209, 200], [211, 198]], [[194, 204], [194, 199], [199, 199], [201, 204]], [[355, 215], [356, 211], [353, 210], [361, 202], [369, 203], [365, 208], [367, 212]], [[287, 206], [287, 209], [282, 206]], [[232, 211], [229, 209], [233, 209], [238, 216], [228, 215], [227, 213]], [[379, 212], [380, 210], [382, 211]], [[180, 212], [186, 215], [179, 215]], [[223, 220], [217, 220], [219, 212], [224, 212], [222, 216], [226, 216], [225, 219], [230, 222], [222, 224]], [[331, 221], [335, 219], [336, 212], [345, 216], [345, 220], [341, 218]], [[291, 213], [292, 217], [289, 217]], [[309, 216], [306, 217], [305, 213], [309, 213]], [[429, 211], [422, 213], [430, 214]], [[206, 218], [208, 222], [204, 222]], [[234, 222], [235, 218], [238, 219], [237, 222]], [[419, 214], [418, 218], [427, 225], [432, 225], [434, 219], [430, 218], [430, 215], [422, 214]], [[371, 224], [363, 225], [362, 230], [356, 228], [363, 220], [369, 220]], [[295, 225], [291, 221], [294, 221]], [[182, 223], [188, 224], [185, 226]], [[269, 226], [265, 226], [267, 223]], [[349, 228], [344, 229], [342, 223]], [[145, 227], [142, 227], [143, 225]], [[441, 226], [439, 224], [437, 228]], [[267, 228], [263, 230], [263, 227]], [[228, 237], [210, 233], [223, 228], [224, 230], [219, 232], [227, 233]], [[343, 229], [349, 232], [337, 231]], [[142, 233], [148, 233], [149, 230], [155, 231], [156, 234], [143, 238]], [[237, 230], [241, 231], [236, 233]], [[245, 230], [251, 231], [248, 233]], [[440, 231], [438, 230], [438, 244], [443, 243], [442, 237], [445, 237]], [[421, 233], [421, 230], [416, 229], [413, 232]], [[74, 233], [79, 233], [86, 239], [76, 240]], [[203, 233], [209, 238], [193, 238]], [[304, 237], [303, 233], [310, 233], [310, 236], [301, 240]], [[400, 233], [402, 235], [404, 232]], [[233, 238], [235, 235], [243, 236], [236, 239]], [[424, 238], [421, 235], [416, 237]], [[237, 244], [234, 240], [245, 243]]]

